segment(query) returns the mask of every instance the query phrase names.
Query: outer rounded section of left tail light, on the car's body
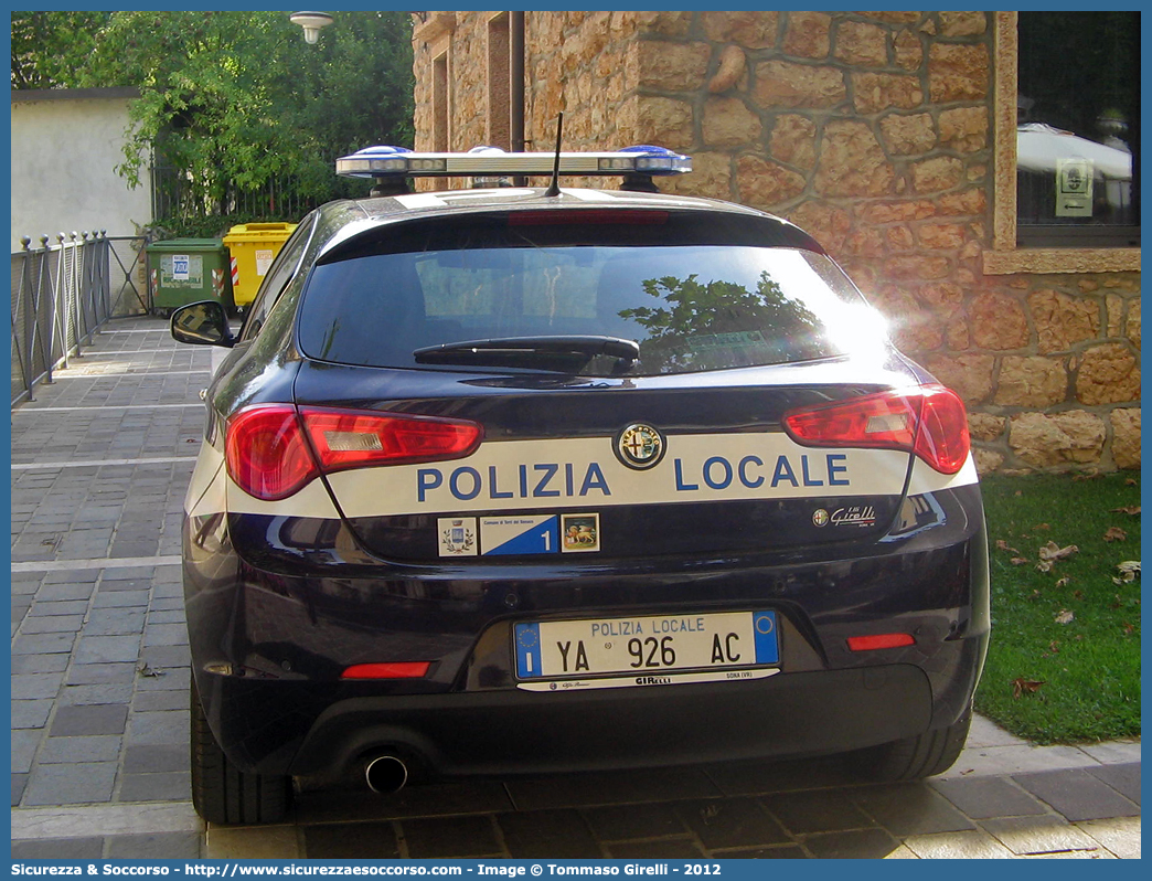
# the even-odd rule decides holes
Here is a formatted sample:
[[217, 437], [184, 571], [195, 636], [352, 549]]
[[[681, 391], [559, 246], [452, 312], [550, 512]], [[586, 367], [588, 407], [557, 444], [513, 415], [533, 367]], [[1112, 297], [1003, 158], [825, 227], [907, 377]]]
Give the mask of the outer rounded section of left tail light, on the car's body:
[[236, 485], [266, 502], [287, 498], [317, 474], [290, 404], [259, 405], [233, 415], [225, 437], [225, 461]]

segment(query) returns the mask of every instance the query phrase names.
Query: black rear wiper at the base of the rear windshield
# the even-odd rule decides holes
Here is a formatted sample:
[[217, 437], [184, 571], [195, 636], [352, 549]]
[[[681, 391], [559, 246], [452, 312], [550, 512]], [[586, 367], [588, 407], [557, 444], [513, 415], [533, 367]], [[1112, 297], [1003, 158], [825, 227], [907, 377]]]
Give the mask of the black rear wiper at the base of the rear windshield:
[[491, 364], [578, 371], [598, 355], [614, 357], [613, 372], [627, 370], [639, 357], [635, 340], [620, 337], [502, 337], [425, 346], [412, 352], [418, 364]]

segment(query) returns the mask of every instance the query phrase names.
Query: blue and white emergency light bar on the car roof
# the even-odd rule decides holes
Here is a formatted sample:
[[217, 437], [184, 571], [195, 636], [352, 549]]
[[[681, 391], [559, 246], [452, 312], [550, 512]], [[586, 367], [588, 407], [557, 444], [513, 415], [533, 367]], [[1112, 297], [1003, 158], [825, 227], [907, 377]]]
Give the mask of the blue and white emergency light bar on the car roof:
[[[485, 149], [468, 153], [417, 153], [402, 146], [367, 146], [336, 159], [343, 178], [475, 178], [551, 175], [555, 153], [506, 153]], [[661, 146], [632, 146], [615, 152], [560, 153], [561, 174], [684, 174], [692, 160]]]

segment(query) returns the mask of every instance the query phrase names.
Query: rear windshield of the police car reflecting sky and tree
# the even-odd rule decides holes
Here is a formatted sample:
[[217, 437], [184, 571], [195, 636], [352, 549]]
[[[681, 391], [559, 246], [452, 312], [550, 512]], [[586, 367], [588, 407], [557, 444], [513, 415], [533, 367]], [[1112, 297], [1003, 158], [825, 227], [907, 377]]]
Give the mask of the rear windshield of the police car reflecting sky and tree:
[[[502, 217], [399, 235], [393, 227], [387, 239], [316, 266], [301, 307], [302, 351], [346, 364], [445, 369], [414, 353], [491, 339], [639, 344], [638, 359], [623, 364], [590, 354], [563, 368], [598, 376], [790, 363], [882, 342], [882, 323], [826, 256], [748, 243], [748, 235], [725, 244], [714, 229], [694, 233], [661, 218]], [[484, 353], [467, 363], [507, 371]], [[538, 367], [555, 369], [546, 359]]]

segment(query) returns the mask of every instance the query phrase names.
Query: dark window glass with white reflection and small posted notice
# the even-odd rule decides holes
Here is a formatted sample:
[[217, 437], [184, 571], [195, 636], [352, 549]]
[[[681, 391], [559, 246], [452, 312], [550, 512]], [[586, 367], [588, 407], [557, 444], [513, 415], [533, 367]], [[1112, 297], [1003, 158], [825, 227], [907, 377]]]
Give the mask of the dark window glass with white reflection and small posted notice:
[[1140, 14], [1020, 13], [1021, 244], [1139, 246]]

